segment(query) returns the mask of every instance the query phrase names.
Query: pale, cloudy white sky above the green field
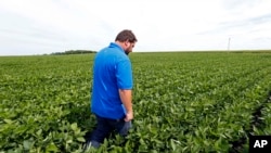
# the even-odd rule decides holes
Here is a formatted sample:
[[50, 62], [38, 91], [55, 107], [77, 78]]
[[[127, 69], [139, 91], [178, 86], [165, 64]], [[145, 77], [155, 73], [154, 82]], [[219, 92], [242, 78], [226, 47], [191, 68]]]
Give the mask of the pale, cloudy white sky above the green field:
[[122, 29], [133, 52], [271, 49], [271, 0], [0, 0], [0, 55], [99, 51]]

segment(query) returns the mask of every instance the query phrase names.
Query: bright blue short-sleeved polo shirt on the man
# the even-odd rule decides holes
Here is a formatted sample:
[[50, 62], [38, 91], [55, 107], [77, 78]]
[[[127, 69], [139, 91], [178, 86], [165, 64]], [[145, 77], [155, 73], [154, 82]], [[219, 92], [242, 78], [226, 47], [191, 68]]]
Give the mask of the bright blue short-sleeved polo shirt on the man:
[[92, 113], [112, 119], [125, 116], [119, 89], [132, 89], [131, 62], [122, 48], [112, 42], [99, 51], [93, 64]]

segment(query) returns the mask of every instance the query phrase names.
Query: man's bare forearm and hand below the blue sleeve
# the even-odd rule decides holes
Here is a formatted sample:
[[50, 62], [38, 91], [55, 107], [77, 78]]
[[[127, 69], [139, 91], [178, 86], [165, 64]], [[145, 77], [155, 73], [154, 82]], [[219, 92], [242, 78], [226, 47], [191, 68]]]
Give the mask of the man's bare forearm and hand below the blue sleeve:
[[132, 112], [132, 90], [119, 89], [119, 97], [126, 109], [126, 122], [130, 122], [133, 118]]

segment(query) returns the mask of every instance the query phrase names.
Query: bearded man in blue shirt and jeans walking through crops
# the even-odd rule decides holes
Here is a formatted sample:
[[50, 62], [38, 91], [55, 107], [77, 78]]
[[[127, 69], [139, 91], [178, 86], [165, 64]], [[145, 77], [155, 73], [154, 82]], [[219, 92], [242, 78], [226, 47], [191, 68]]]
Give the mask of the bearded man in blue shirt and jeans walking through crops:
[[128, 54], [137, 42], [131, 30], [120, 31], [115, 42], [99, 51], [93, 64], [91, 111], [96, 128], [87, 145], [99, 148], [114, 130], [127, 136], [133, 119], [132, 68]]

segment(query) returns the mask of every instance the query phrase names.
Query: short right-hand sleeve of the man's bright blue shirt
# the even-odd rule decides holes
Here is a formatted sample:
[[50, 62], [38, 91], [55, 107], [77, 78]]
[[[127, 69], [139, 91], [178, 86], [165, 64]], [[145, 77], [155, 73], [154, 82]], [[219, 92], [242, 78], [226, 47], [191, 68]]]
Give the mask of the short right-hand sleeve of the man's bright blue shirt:
[[117, 63], [116, 78], [118, 89], [132, 89], [132, 67], [129, 60], [124, 60]]

